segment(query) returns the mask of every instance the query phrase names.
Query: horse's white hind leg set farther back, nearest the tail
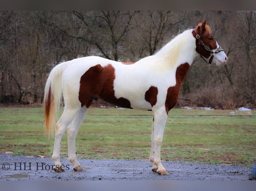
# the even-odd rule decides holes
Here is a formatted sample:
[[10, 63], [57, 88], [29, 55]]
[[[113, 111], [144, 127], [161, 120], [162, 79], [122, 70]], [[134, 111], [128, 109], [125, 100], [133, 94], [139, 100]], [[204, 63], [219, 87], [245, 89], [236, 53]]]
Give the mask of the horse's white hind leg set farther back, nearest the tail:
[[54, 139], [54, 148], [53, 148], [53, 154], [52, 154], [52, 160], [55, 163], [55, 167], [53, 168], [56, 172], [62, 172], [64, 171], [63, 168], [61, 168], [61, 163], [59, 160], [59, 152], [60, 152], [60, 143], [61, 138], [68, 127], [68, 125], [71, 123], [71, 121], [74, 119], [74, 117], [77, 115], [80, 108], [71, 109], [67, 108], [65, 106], [64, 111], [58, 120], [58, 122], [55, 125], [55, 139]]

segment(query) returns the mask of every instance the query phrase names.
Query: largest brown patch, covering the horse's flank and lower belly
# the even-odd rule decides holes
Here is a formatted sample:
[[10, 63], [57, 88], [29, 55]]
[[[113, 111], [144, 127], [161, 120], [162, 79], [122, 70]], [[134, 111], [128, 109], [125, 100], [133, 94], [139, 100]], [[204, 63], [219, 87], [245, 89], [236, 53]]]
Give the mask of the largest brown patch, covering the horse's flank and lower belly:
[[131, 108], [131, 103], [128, 99], [115, 97], [115, 78], [115, 69], [110, 64], [105, 67], [98, 64], [89, 68], [80, 79], [78, 98], [81, 106], [90, 106], [93, 96], [120, 107]]

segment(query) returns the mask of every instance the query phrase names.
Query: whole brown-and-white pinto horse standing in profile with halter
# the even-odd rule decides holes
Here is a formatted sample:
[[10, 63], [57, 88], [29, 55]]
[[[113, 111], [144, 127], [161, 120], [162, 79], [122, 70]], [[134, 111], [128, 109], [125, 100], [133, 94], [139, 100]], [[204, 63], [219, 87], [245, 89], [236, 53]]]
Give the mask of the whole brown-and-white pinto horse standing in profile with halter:
[[[195, 29], [183, 31], [154, 55], [135, 63], [88, 56], [56, 65], [44, 89], [44, 126], [49, 137], [53, 136], [55, 127], [54, 170], [64, 171], [59, 152], [66, 129], [68, 159], [75, 171], [83, 170], [76, 158], [76, 135], [93, 100], [103, 99], [119, 107], [153, 112], [149, 156], [151, 170], [168, 175], [160, 159], [164, 127], [169, 110], [177, 103], [181, 83], [193, 59], [200, 55], [209, 65], [212, 61], [217, 66], [227, 63], [225, 52], [206, 23], [207, 19]], [[56, 123], [62, 95], [64, 111]]]

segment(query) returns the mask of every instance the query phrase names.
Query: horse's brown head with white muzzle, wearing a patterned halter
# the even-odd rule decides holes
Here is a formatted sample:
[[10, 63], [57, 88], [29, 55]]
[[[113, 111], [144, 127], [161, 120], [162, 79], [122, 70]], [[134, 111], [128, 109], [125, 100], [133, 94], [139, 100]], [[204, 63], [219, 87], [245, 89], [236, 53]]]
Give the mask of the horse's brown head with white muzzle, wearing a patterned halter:
[[217, 66], [225, 65], [228, 57], [213, 37], [211, 29], [206, 22], [207, 19], [204, 23], [200, 23], [192, 32], [193, 36], [196, 38], [196, 51], [201, 58], [210, 58], [208, 62], [203, 58], [208, 65], [211, 65], [212, 61], [214, 61]]

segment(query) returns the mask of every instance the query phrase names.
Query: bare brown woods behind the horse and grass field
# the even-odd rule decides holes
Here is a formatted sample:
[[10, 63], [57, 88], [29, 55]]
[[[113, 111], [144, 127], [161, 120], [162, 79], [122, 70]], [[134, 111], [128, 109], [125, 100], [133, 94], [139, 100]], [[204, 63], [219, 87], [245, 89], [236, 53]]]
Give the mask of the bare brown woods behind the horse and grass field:
[[0, 103], [41, 103], [56, 64], [97, 55], [136, 62], [208, 19], [229, 57], [208, 67], [196, 57], [178, 105], [256, 107], [253, 11], [0, 11]]

